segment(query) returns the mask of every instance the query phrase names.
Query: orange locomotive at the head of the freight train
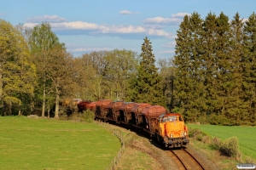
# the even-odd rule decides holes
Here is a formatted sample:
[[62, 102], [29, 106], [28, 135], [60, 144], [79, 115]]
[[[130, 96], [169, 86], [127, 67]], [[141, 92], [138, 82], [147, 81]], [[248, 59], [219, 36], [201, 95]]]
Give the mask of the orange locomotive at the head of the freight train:
[[155, 129], [158, 141], [166, 144], [166, 147], [182, 147], [189, 143], [188, 127], [183, 117], [177, 113], [160, 115]]

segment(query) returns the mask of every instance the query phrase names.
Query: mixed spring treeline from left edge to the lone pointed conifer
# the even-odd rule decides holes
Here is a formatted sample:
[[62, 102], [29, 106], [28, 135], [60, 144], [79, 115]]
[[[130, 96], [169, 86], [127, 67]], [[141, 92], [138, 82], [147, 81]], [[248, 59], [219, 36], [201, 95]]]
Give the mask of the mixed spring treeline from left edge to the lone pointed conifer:
[[148, 37], [142, 54], [114, 49], [73, 57], [49, 23], [33, 29], [0, 20], [0, 108], [4, 115], [58, 118], [65, 99], [166, 105]]

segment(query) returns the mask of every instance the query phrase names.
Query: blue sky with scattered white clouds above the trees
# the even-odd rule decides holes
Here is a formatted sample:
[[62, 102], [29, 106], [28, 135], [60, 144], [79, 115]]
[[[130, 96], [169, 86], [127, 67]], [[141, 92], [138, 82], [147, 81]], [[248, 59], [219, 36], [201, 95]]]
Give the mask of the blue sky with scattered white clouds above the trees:
[[49, 22], [74, 57], [113, 49], [140, 54], [148, 37], [158, 60], [173, 58], [184, 15], [247, 19], [255, 7], [254, 0], [0, 0], [0, 19], [29, 28]]

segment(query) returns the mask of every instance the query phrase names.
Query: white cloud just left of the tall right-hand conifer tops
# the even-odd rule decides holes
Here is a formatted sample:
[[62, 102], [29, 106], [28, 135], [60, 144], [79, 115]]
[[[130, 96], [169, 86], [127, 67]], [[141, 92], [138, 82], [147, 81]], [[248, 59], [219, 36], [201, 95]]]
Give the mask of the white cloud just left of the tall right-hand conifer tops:
[[144, 23], [160, 24], [160, 25], [178, 25], [183, 20], [183, 16], [185, 16], [186, 14], [188, 13], [172, 14], [172, 18], [163, 18], [163, 17], [148, 18], [144, 21]]

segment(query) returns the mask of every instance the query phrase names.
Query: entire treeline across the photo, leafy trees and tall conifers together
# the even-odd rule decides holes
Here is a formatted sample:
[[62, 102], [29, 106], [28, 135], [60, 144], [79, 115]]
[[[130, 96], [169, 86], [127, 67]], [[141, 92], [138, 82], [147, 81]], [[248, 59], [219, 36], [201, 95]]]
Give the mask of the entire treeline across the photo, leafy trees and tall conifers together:
[[64, 99], [163, 105], [187, 122], [256, 125], [256, 14], [186, 15], [173, 59], [114, 49], [73, 57], [49, 23], [33, 29], [0, 20], [0, 112], [53, 113]]

